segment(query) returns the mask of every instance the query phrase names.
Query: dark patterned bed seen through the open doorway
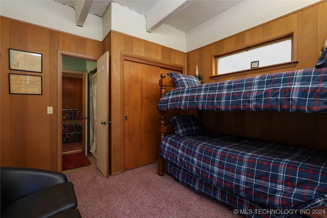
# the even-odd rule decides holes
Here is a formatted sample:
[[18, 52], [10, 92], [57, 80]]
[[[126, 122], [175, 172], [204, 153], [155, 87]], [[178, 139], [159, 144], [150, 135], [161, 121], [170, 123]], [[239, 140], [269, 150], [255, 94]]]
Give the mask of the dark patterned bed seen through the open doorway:
[[62, 143], [82, 141], [82, 109], [62, 109]]

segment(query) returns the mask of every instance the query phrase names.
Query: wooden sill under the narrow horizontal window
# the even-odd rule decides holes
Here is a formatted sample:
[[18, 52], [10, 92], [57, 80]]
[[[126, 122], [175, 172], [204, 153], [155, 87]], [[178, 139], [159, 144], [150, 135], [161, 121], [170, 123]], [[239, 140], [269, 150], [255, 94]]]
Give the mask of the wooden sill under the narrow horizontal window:
[[289, 67], [295, 67], [297, 65], [298, 61], [290, 61], [290, 62], [285, 62], [283, 64], [274, 64], [274, 65], [269, 65], [269, 66], [262, 66], [262, 67], [255, 67], [251, 69], [245, 69], [245, 70], [240, 70], [236, 72], [228, 72], [227, 74], [222, 74], [222, 75], [215, 75], [209, 77], [211, 80], [224, 80], [225, 78], [241, 78], [242, 76], [246, 76], [249, 74], [258, 74], [260, 72], [267, 72], [271, 70], [277, 70], [277, 69], [285, 69]]

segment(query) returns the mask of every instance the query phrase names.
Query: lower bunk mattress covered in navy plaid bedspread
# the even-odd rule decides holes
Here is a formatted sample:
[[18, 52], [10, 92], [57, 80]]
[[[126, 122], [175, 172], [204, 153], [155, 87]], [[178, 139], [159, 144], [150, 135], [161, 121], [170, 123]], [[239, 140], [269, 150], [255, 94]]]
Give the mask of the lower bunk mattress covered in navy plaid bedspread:
[[248, 217], [301, 217], [327, 206], [325, 152], [202, 132], [165, 136], [159, 155], [178, 180]]

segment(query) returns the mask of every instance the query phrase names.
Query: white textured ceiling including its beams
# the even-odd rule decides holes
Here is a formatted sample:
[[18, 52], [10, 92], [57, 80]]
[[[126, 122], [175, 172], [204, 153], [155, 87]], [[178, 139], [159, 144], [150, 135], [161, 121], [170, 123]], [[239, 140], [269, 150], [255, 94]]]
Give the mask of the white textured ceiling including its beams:
[[145, 15], [147, 31], [166, 23], [188, 32], [244, 0], [55, 0], [73, 7], [76, 25], [83, 27], [88, 14], [102, 17], [111, 2]]

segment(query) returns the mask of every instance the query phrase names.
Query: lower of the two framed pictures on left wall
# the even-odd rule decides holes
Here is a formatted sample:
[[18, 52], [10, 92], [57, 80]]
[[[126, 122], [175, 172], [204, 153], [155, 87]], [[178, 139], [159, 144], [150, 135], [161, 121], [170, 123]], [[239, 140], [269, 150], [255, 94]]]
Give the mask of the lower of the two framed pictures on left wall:
[[9, 74], [10, 94], [42, 94], [42, 77]]

